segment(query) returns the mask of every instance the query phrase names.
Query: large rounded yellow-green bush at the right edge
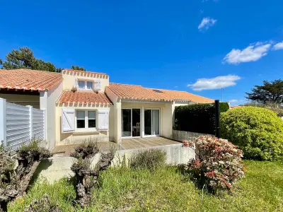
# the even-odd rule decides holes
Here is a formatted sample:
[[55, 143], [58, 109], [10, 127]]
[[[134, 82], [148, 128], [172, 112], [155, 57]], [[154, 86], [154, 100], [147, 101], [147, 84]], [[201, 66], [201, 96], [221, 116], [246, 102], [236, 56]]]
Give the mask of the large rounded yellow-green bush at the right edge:
[[283, 159], [283, 121], [260, 107], [239, 107], [221, 114], [221, 137], [238, 145], [244, 157]]

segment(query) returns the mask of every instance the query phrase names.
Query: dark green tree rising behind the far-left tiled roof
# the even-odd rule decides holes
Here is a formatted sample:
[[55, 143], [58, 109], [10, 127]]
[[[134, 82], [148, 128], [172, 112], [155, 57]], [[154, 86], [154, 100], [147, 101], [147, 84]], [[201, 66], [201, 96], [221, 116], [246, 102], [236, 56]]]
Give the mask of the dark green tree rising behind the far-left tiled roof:
[[36, 59], [33, 51], [28, 47], [13, 49], [6, 55], [6, 61], [0, 59], [1, 69], [33, 69], [41, 71], [59, 72], [54, 64]]

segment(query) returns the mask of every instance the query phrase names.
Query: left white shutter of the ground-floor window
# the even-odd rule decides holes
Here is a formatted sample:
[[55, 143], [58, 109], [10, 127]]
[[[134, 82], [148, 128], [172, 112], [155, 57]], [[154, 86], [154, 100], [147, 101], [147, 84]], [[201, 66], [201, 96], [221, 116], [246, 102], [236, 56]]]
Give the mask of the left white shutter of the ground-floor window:
[[62, 109], [62, 133], [69, 133], [75, 130], [75, 110]]

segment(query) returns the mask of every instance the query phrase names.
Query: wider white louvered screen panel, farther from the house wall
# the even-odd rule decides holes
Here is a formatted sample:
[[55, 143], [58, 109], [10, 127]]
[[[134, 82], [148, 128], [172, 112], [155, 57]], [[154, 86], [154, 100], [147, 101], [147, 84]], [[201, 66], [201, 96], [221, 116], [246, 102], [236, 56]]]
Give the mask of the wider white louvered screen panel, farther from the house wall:
[[30, 139], [30, 108], [6, 103], [7, 147], [16, 149]]

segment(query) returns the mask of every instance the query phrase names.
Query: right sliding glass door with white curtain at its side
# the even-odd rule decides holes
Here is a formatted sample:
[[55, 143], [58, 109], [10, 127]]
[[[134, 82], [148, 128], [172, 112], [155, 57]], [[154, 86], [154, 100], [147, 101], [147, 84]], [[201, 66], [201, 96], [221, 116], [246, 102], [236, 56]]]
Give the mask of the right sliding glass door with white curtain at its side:
[[159, 119], [160, 114], [157, 109], [145, 109], [144, 110], [144, 135], [145, 136], [157, 136], [159, 132]]

